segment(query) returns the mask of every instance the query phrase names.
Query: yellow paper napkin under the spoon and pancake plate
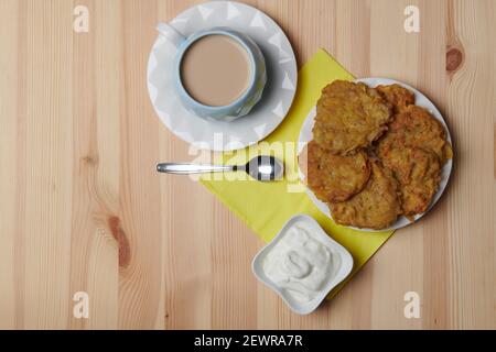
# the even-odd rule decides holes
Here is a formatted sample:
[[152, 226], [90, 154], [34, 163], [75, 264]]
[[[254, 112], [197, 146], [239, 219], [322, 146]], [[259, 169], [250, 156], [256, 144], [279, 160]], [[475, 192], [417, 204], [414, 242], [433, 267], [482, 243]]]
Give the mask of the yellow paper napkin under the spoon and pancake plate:
[[[320, 50], [300, 69], [293, 105], [279, 128], [256, 146], [219, 155], [220, 162], [241, 164], [251, 156], [270, 153], [284, 161], [284, 180], [260, 183], [248, 179], [242, 173], [207, 175], [201, 179], [265, 242], [269, 242], [292, 216], [306, 213], [313, 217], [334, 240], [352, 253], [355, 262], [352, 275], [389, 239], [392, 231], [356, 231], [336, 226], [322, 213], [298, 179], [295, 145], [301, 125], [315, 106], [322, 88], [335, 79], [353, 78], [333, 57]], [[228, 179], [219, 179], [222, 177]], [[335, 295], [342, 286], [335, 288], [330, 296]]]

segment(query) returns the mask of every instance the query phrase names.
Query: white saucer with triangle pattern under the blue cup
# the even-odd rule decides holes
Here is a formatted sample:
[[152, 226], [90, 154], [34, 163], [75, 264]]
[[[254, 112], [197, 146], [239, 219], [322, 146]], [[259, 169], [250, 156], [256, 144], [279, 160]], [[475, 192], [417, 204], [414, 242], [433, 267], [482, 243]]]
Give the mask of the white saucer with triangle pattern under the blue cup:
[[198, 148], [231, 151], [257, 143], [282, 122], [294, 98], [298, 68], [288, 37], [272, 19], [244, 3], [212, 1], [187, 9], [170, 24], [184, 36], [213, 26], [246, 33], [262, 51], [268, 76], [263, 96], [248, 116], [231, 122], [204, 120], [176, 97], [171, 74], [176, 50], [159, 35], [148, 62], [148, 91], [172, 133]]

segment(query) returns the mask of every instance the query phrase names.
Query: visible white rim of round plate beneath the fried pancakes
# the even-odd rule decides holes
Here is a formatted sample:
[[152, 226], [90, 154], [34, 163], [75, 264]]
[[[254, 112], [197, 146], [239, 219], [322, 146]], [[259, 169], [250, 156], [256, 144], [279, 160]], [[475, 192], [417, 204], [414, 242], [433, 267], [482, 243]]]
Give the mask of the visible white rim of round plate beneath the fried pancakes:
[[[392, 85], [392, 84], [398, 84], [411, 91], [413, 91], [414, 96], [416, 96], [416, 106], [425, 108], [427, 110], [429, 110], [429, 112], [438, 120], [441, 122], [441, 124], [444, 127], [444, 130], [446, 131], [446, 140], [451, 143], [451, 135], [450, 135], [450, 130], [448, 129], [446, 123], [444, 122], [443, 117], [441, 116], [441, 113], [439, 112], [439, 110], [435, 108], [435, 106], [432, 103], [432, 101], [429, 100], [429, 98], [427, 98], [423, 94], [421, 94], [420, 91], [418, 91], [417, 89], [414, 89], [413, 87], [410, 87], [407, 84], [403, 84], [401, 81], [395, 80], [395, 79], [389, 79], [389, 78], [360, 78], [360, 79], [355, 79], [354, 81], [358, 82], [364, 82], [369, 87], [377, 87], [379, 85]], [[309, 116], [306, 117], [305, 121], [303, 122], [301, 130], [300, 130], [300, 136], [299, 136], [299, 143], [298, 143], [298, 154], [301, 153], [301, 151], [303, 150], [303, 147], [306, 145], [306, 143], [309, 143], [313, 136], [312, 136], [312, 129], [313, 129], [313, 123], [314, 123], [314, 119], [315, 119], [315, 114], [316, 114], [316, 109], [315, 107], [312, 109], [312, 111], [310, 111]], [[453, 144], [452, 144], [453, 145]], [[451, 175], [451, 169], [453, 167], [453, 160], [448, 160], [446, 163], [444, 164], [442, 170], [441, 170], [441, 182], [439, 184], [439, 189], [436, 191], [436, 194], [434, 195], [434, 197], [432, 198], [432, 201], [429, 206], [429, 208], [425, 210], [425, 212], [423, 213], [419, 213], [414, 217], [414, 222], [417, 220], [419, 220], [420, 218], [422, 218], [429, 210], [432, 209], [432, 207], [435, 205], [435, 202], [439, 200], [439, 198], [441, 198], [441, 195], [443, 194], [444, 189], [446, 188], [448, 182], [450, 179], [450, 175]], [[303, 180], [304, 179], [304, 175], [301, 170], [299, 170], [299, 175], [300, 178]], [[319, 200], [315, 195], [310, 190], [310, 188], [306, 187], [306, 194], [309, 195], [310, 199], [313, 201], [313, 204], [323, 212], [325, 213], [327, 217], [330, 217], [332, 219], [331, 216], [331, 211], [328, 210], [328, 207], [321, 200]], [[367, 231], [367, 232], [379, 232], [379, 231], [390, 231], [390, 230], [398, 230], [401, 228], [405, 228], [409, 224], [411, 224], [412, 222], [410, 222], [410, 220], [408, 220], [406, 217], [399, 217], [398, 220], [389, 228], [387, 229], [381, 229], [381, 230], [373, 230], [373, 229], [358, 229], [358, 228], [354, 228], [354, 227], [349, 227], [352, 229], [356, 229], [356, 230], [360, 230], [360, 231]]]

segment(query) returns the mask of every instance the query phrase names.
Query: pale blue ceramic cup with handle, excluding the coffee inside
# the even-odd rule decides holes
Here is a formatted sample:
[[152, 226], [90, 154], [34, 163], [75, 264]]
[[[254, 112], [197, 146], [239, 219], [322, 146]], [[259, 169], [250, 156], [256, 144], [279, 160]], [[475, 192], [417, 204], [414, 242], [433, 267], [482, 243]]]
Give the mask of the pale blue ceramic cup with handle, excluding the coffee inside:
[[[260, 48], [249, 36], [224, 26], [202, 30], [188, 37], [183, 36], [165, 23], [159, 23], [157, 30], [177, 48], [173, 67], [174, 85], [179, 98], [187, 110], [204, 119], [233, 121], [250, 112], [251, 108], [260, 100], [267, 82], [266, 62]], [[251, 66], [247, 89], [241, 97], [228, 106], [213, 107], [201, 103], [191, 97], [181, 79], [181, 63], [187, 48], [197, 40], [213, 34], [226, 35], [237, 41], [246, 50]]]

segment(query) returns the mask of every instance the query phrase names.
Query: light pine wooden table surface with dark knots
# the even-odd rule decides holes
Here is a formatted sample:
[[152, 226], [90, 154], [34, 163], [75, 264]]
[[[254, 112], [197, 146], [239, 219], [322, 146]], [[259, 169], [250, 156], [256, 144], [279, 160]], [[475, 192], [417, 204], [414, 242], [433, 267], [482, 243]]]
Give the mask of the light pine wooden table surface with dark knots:
[[[496, 1], [248, 2], [300, 65], [324, 47], [436, 103], [456, 160], [432, 213], [316, 312], [291, 314], [251, 274], [262, 242], [202, 185], [154, 170], [190, 160], [148, 97], [154, 25], [194, 1], [0, 0], [0, 328], [496, 328]], [[73, 31], [77, 4], [88, 33]]]

